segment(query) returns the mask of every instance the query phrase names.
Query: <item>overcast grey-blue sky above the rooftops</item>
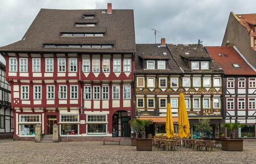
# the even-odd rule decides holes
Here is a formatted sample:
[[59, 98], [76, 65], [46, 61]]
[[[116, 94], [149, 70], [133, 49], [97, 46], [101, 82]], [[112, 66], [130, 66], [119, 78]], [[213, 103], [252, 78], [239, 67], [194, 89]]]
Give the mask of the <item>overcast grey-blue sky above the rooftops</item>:
[[0, 46], [20, 40], [40, 8], [133, 9], [136, 43], [221, 45], [230, 12], [256, 13], [256, 0], [0, 0]]

